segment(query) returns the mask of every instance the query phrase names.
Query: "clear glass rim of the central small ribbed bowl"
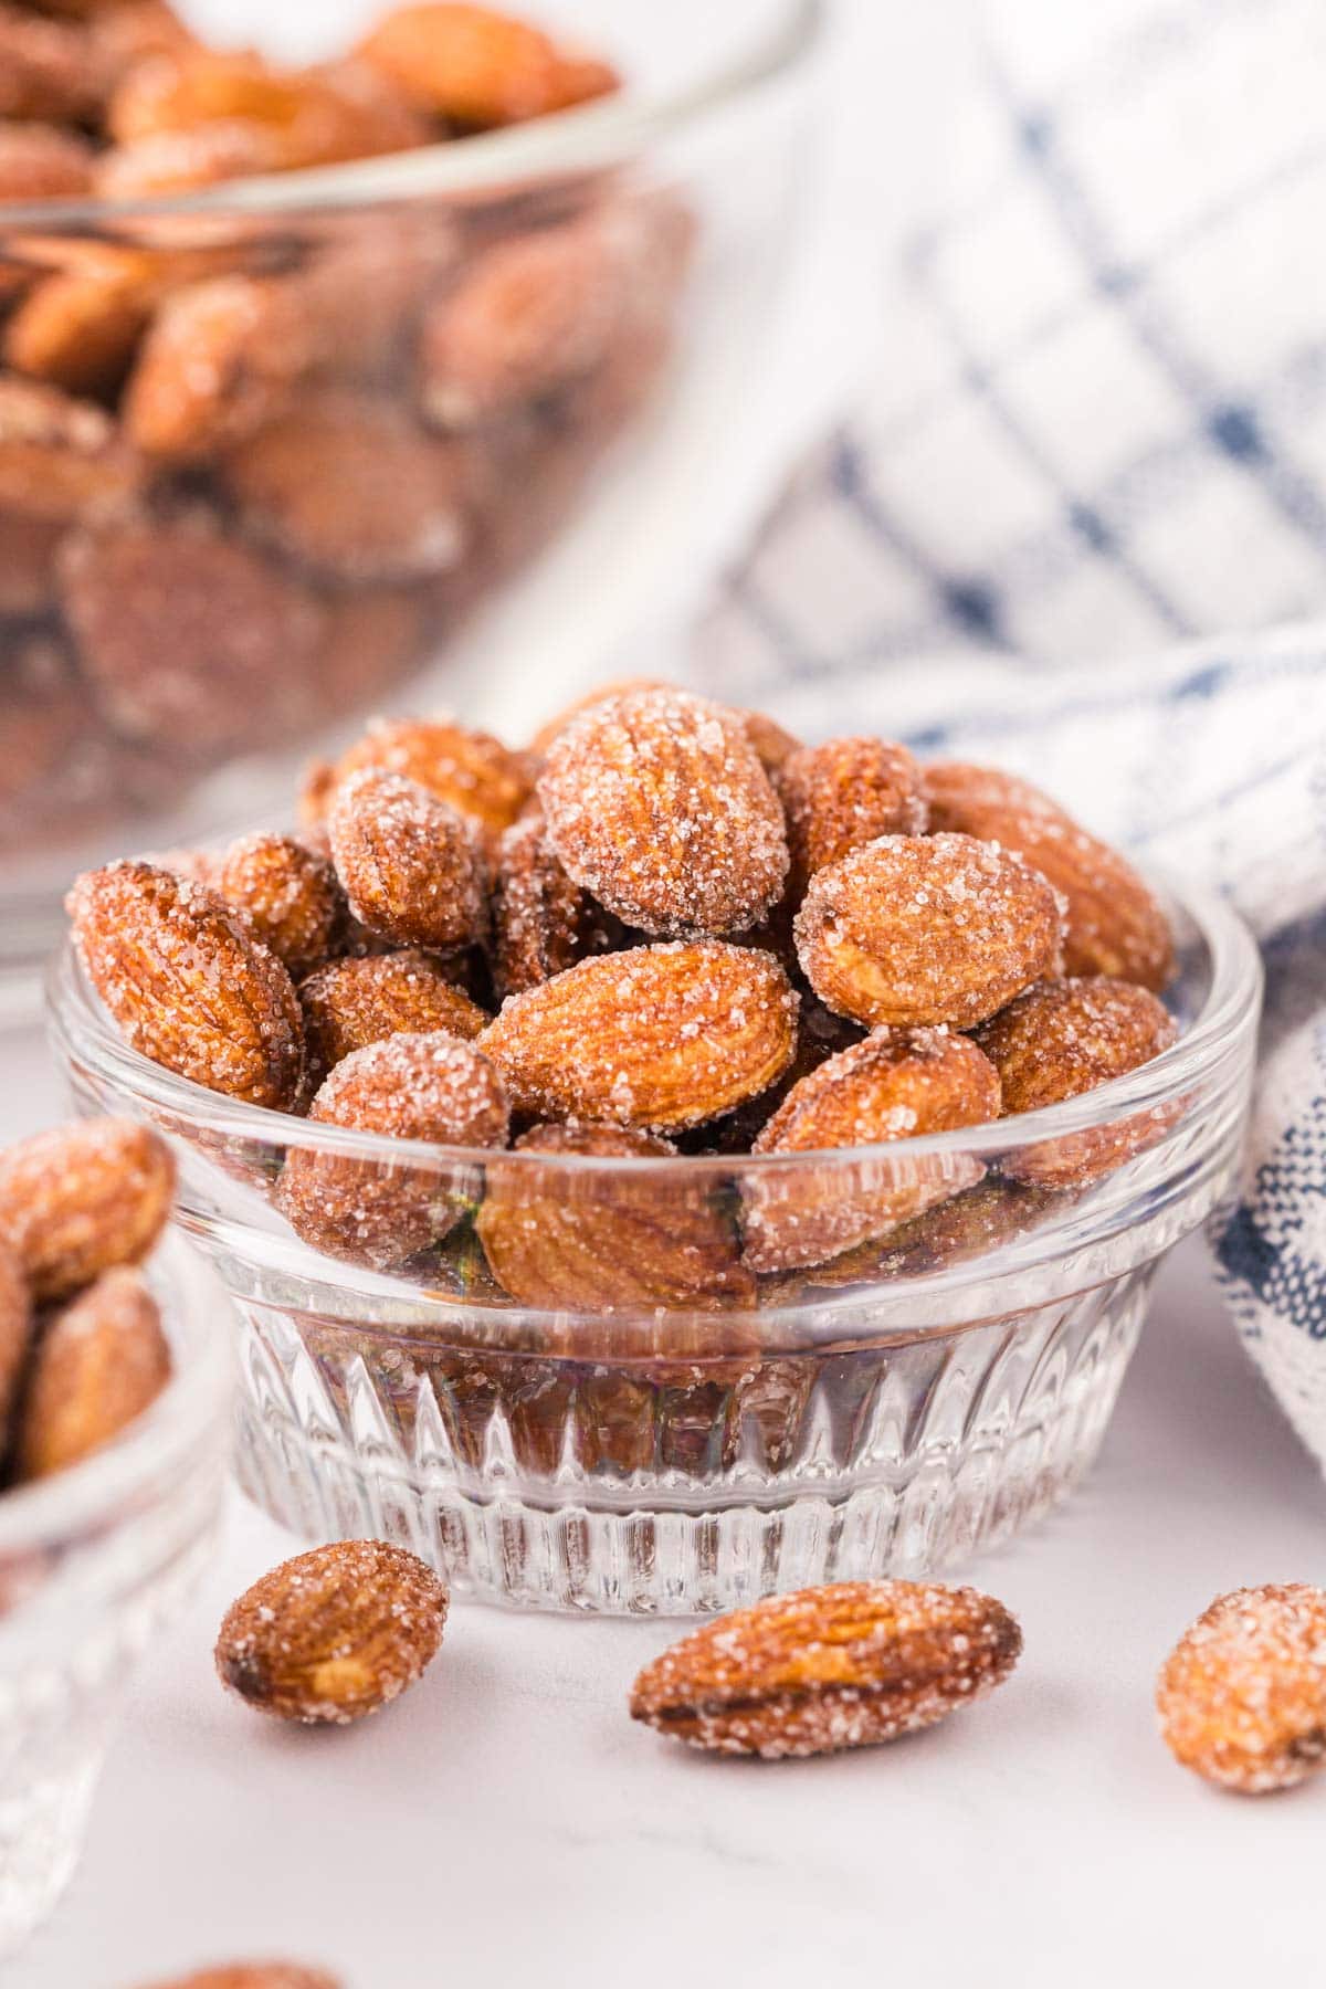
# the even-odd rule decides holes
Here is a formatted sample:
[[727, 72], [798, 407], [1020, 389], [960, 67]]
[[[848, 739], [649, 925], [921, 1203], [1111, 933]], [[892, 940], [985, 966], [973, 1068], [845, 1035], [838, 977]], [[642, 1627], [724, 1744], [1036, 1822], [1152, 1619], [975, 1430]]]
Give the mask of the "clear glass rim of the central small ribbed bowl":
[[[1149, 873], [1153, 883], [1161, 883]], [[1163, 889], [1163, 883], [1161, 883]], [[1256, 943], [1239, 913], [1215, 891], [1185, 887], [1167, 893], [1201, 935], [1211, 961], [1211, 987], [1191, 1026], [1159, 1056], [1121, 1078], [1099, 1084], [1093, 1092], [1066, 1098], [1038, 1112], [990, 1120], [982, 1126], [962, 1126], [952, 1132], [932, 1132], [875, 1146], [807, 1148], [795, 1154], [678, 1154], [678, 1156], [602, 1156], [602, 1154], [543, 1154], [513, 1148], [441, 1146], [425, 1140], [394, 1140], [384, 1134], [350, 1132], [340, 1126], [320, 1126], [290, 1112], [245, 1104], [223, 1092], [209, 1092], [193, 1078], [177, 1076], [155, 1064], [141, 1050], [129, 1048], [115, 1030], [107, 1010], [95, 998], [74, 941], [66, 937], [54, 955], [46, 977], [48, 1028], [66, 1064], [87, 1066], [119, 1094], [135, 1104], [149, 1104], [189, 1122], [211, 1136], [306, 1150], [328, 1156], [348, 1156], [378, 1164], [419, 1168], [491, 1168], [501, 1166], [505, 1179], [517, 1170], [537, 1170], [547, 1193], [549, 1170], [555, 1177], [602, 1175], [628, 1170], [656, 1183], [662, 1191], [682, 1183], [706, 1183], [740, 1175], [749, 1179], [781, 1177], [825, 1166], [849, 1168], [887, 1162], [897, 1166], [912, 1156], [1008, 1156], [1046, 1140], [1091, 1132], [1119, 1122], [1125, 1114], [1151, 1112], [1181, 1100], [1193, 1086], [1209, 1078], [1223, 1058], [1235, 1052], [1256, 1024], [1260, 1010], [1262, 969]], [[736, 941], [740, 943], [740, 939]]]

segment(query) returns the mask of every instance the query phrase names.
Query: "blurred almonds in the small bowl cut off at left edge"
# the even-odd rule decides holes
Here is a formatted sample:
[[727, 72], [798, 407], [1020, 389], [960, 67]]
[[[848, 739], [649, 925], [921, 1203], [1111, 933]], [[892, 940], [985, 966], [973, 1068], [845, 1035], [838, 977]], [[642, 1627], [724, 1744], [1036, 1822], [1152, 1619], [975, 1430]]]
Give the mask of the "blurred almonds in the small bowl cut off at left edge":
[[157, 1134], [97, 1120], [0, 1154], [0, 1456], [4, 1482], [80, 1464], [171, 1378], [161, 1313], [137, 1265], [171, 1211]]

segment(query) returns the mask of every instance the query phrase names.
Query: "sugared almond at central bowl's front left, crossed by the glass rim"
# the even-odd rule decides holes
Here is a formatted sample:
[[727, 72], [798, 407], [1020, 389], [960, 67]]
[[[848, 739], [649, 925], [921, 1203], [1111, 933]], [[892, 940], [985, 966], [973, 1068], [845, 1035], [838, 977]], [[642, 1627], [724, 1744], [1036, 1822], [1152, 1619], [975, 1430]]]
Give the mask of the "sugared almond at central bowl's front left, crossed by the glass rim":
[[[308, 1120], [429, 1146], [501, 1148], [511, 1112], [497, 1070], [471, 1044], [402, 1032], [344, 1056]], [[443, 1158], [356, 1160], [302, 1146], [286, 1158], [276, 1199], [314, 1249], [390, 1269], [439, 1243], [477, 1193], [477, 1170]]]

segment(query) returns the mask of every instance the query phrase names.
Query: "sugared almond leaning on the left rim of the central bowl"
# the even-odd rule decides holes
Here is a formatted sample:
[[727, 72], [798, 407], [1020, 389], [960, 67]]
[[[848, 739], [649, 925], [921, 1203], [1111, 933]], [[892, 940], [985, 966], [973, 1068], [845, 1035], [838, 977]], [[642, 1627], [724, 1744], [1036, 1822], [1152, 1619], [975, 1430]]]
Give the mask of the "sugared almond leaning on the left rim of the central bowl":
[[74, 943], [121, 1036], [213, 1092], [284, 1112], [304, 1068], [290, 975], [205, 885], [109, 863], [68, 899]]

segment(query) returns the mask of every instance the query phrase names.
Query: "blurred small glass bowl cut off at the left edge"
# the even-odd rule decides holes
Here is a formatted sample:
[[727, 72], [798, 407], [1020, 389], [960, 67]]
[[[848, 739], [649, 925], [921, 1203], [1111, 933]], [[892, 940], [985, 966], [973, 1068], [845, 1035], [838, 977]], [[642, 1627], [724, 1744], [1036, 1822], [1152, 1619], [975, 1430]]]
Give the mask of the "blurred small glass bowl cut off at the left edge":
[[68, 1884], [133, 1665], [215, 1537], [235, 1370], [225, 1301], [179, 1235], [147, 1277], [169, 1384], [85, 1464], [0, 1498], [0, 1957]]

